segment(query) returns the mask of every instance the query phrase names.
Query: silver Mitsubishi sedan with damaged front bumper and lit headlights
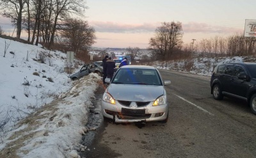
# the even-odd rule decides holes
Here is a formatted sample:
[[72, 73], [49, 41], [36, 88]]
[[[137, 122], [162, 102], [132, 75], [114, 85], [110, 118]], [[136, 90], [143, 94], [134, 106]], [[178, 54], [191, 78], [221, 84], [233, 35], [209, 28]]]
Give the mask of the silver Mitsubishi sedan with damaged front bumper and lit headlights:
[[102, 97], [102, 115], [122, 122], [168, 121], [169, 105], [159, 71], [150, 66], [126, 65], [116, 71]]

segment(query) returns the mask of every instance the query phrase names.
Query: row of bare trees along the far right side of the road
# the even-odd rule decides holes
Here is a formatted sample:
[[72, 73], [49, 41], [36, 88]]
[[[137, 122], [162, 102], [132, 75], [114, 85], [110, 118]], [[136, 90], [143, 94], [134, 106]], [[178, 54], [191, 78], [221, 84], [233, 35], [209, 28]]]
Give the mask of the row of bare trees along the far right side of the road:
[[[153, 60], [191, 58], [193, 56], [248, 56], [256, 54], [256, 39], [236, 34], [223, 38], [215, 36], [199, 42], [182, 42], [182, 23], [163, 22], [149, 40]], [[191, 38], [192, 39], [192, 38]]]

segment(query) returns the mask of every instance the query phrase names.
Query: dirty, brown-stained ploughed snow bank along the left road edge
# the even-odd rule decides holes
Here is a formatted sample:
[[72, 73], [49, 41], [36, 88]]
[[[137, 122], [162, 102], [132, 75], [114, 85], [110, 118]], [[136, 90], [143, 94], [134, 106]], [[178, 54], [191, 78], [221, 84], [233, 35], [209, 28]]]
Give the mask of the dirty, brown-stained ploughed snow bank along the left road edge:
[[82, 134], [95, 130], [84, 125], [99, 80], [99, 75], [90, 74], [75, 81], [70, 91], [19, 122], [1, 154], [13, 157], [17, 153], [28, 158], [79, 157], [76, 149], [86, 148], [79, 144]]

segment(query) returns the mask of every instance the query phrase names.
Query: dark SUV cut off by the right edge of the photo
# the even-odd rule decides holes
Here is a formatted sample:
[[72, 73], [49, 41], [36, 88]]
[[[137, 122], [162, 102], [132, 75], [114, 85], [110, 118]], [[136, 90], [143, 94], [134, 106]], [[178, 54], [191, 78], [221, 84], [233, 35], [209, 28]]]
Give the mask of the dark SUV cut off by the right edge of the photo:
[[222, 63], [214, 68], [211, 77], [214, 99], [223, 96], [244, 99], [256, 115], [256, 63]]

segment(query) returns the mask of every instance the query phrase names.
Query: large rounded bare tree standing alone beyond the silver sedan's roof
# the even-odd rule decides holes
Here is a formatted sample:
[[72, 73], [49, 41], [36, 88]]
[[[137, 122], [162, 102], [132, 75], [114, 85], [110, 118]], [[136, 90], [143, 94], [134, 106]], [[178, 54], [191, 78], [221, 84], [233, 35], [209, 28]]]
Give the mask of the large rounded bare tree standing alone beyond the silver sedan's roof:
[[149, 48], [162, 59], [172, 55], [173, 49], [182, 44], [182, 24], [181, 22], [163, 22], [162, 26], [155, 31], [154, 38], [150, 38]]

